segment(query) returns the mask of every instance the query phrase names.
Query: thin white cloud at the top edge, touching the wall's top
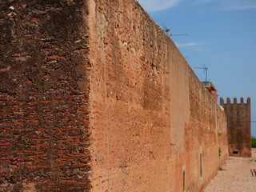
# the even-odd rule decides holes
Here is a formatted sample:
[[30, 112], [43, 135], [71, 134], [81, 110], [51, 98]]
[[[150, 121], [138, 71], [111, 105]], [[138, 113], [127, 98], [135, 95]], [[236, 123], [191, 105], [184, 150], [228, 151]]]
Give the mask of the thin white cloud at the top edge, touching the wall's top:
[[183, 0], [138, 0], [142, 7], [148, 12], [167, 10], [170, 7], [177, 6]]

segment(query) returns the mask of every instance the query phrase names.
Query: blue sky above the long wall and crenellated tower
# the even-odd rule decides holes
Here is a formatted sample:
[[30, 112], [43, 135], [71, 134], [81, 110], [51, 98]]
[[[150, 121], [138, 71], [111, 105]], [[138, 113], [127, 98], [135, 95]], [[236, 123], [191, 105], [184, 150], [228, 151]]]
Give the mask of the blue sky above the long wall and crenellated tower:
[[[202, 81], [203, 64], [219, 97], [251, 98], [256, 121], [256, 0], [138, 0], [171, 37]], [[252, 122], [256, 136], [256, 122]]]

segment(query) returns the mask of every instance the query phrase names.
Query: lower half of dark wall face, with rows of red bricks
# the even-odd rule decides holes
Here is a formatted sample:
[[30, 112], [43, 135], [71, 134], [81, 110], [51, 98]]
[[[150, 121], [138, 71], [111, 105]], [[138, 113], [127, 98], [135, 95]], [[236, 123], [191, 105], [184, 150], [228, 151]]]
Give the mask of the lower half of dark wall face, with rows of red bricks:
[[1, 191], [90, 189], [88, 102], [88, 95], [1, 95]]

